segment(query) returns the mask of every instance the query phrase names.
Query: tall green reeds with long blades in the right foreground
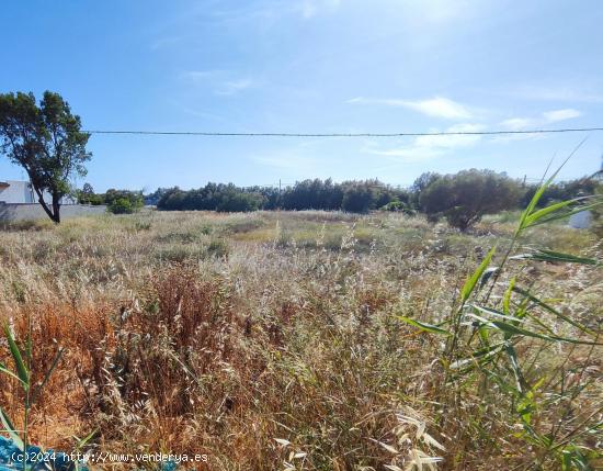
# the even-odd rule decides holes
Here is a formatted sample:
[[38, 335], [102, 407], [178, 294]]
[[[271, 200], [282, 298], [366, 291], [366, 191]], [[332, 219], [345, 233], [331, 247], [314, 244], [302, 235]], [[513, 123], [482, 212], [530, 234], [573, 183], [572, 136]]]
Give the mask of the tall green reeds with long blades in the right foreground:
[[[515, 415], [520, 431], [514, 436], [532, 451], [534, 469], [588, 470], [594, 469], [591, 463], [598, 457], [598, 450], [584, 446], [583, 438], [596, 435], [603, 412], [601, 403], [591, 402], [594, 381], [584, 378], [588, 367], [579, 368], [578, 374], [568, 375], [567, 361], [548, 371], [537, 366], [551, 348], [561, 344], [571, 345], [572, 351], [581, 348], [589, 360], [599, 356], [603, 346], [601, 326], [594, 323], [595, 319], [589, 319], [591, 325], [587, 325], [564, 313], [554, 305], [560, 300], [545, 299], [544, 292], [539, 292], [542, 289], [534, 284], [522, 285], [519, 280], [522, 267], [510, 266], [526, 259], [547, 263], [601, 265], [593, 258], [546, 248], [531, 247], [527, 253], [522, 250], [513, 255], [530, 228], [602, 204], [601, 200], [576, 199], [538, 210], [537, 203], [556, 175], [542, 184], [521, 214], [498, 263], [493, 265], [494, 246], [467, 278], [448, 318], [439, 325], [403, 316], [400, 319], [423, 332], [446, 337], [440, 361], [447, 389], [442, 392], [441, 401], [452, 401], [448, 406], [453, 411], [465, 388], [477, 383], [486, 395], [496, 386], [497, 396], [504, 397]], [[504, 292], [494, 296], [497, 282], [504, 271], [510, 272]], [[534, 344], [537, 345], [535, 352]], [[581, 402], [581, 396], [585, 401]], [[577, 407], [580, 403], [581, 407]]]

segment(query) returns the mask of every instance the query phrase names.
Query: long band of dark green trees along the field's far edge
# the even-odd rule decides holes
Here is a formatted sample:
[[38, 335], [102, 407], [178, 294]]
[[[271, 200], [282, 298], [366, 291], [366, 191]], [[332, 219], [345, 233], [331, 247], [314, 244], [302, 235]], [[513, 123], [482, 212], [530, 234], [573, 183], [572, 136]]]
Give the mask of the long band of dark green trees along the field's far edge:
[[[571, 200], [595, 193], [600, 182], [593, 178], [549, 186], [538, 205]], [[352, 180], [335, 183], [331, 179], [304, 180], [294, 186], [237, 187], [232, 183], [207, 183], [193, 190], [160, 188], [153, 193], [107, 190], [96, 194], [88, 183], [79, 190], [80, 202], [107, 204], [114, 213], [128, 213], [143, 202], [160, 211], [249, 212], [258, 210], [325, 210], [366, 213], [374, 210], [422, 212], [430, 221], [444, 217], [466, 229], [485, 214], [525, 208], [538, 184], [526, 184], [492, 170], [463, 170], [455, 175], [423, 173], [409, 188], [385, 184], [378, 180]]]

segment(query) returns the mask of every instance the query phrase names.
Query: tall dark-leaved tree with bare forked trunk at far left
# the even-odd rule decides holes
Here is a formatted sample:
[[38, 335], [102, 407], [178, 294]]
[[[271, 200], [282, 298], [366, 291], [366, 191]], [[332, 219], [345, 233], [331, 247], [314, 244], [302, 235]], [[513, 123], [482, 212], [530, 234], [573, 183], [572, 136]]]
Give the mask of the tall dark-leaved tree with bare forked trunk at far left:
[[0, 153], [25, 169], [39, 204], [59, 223], [69, 179], [83, 177], [84, 162], [92, 157], [86, 149], [90, 134], [81, 131], [80, 117], [58, 93], [45, 91], [39, 105], [33, 93], [0, 93]]

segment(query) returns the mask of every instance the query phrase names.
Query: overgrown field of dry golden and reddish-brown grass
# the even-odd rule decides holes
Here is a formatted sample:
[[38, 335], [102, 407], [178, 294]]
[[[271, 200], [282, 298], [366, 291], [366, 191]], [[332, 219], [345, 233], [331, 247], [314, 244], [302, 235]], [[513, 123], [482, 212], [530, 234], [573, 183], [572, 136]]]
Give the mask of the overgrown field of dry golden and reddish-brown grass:
[[[31, 441], [69, 451], [94, 433], [88, 448], [203, 452], [213, 470], [554, 470], [561, 450], [592, 463], [599, 347], [527, 337], [513, 344], [521, 378], [501, 359], [456, 374], [448, 360], [481, 329], [466, 326], [452, 350], [399, 318], [446, 325], [494, 244], [500, 261], [516, 217], [467, 234], [419, 216], [323, 212], [4, 227], [0, 315], [19, 341], [31, 329], [36, 381], [66, 348], [33, 407]], [[516, 250], [535, 246], [601, 258], [594, 236], [560, 224], [527, 231]], [[505, 294], [516, 277], [600, 332], [601, 267], [508, 263], [475, 295], [521, 305]], [[583, 338], [530, 305], [551, 338]], [[505, 391], [514, 373], [528, 385], [521, 399]], [[15, 381], [0, 375], [0, 391], [20, 417]]]

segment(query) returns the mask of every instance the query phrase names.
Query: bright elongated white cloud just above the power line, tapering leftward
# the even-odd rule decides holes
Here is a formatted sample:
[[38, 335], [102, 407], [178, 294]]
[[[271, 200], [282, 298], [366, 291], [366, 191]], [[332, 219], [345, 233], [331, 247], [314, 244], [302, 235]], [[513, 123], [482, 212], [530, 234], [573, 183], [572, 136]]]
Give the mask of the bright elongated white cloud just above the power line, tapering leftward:
[[474, 111], [468, 106], [443, 97], [434, 97], [426, 100], [369, 99], [357, 97], [348, 100], [348, 103], [402, 106], [431, 117], [443, 117], [446, 120], [468, 120], [474, 116]]

